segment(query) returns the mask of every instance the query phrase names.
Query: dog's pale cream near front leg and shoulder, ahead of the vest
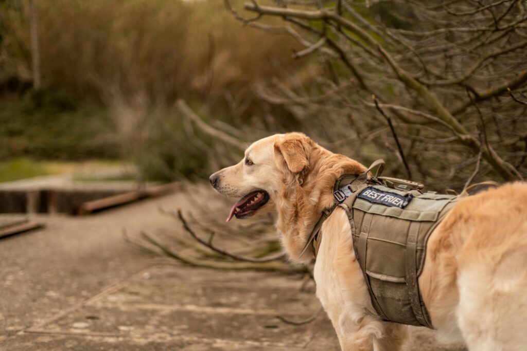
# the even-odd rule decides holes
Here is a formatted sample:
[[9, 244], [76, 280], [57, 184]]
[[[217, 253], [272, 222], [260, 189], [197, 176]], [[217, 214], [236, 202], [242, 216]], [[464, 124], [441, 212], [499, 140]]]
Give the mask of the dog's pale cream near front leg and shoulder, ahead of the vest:
[[[333, 323], [340, 347], [344, 351], [371, 351], [374, 338], [387, 337], [384, 331], [388, 324], [368, 312], [373, 307], [355, 259], [344, 210], [337, 208], [321, 230], [323, 236], [314, 269], [317, 297]], [[384, 347], [388, 343], [382, 341], [377, 345]]]

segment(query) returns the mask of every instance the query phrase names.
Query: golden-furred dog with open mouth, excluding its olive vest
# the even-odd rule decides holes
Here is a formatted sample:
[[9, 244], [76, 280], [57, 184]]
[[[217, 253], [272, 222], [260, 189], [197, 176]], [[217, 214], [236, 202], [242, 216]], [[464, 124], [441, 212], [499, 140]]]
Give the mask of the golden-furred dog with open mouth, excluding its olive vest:
[[[276, 211], [277, 231], [292, 262], [343, 174], [366, 167], [301, 133], [272, 135], [250, 145], [238, 164], [210, 176], [221, 194], [241, 199], [232, 217]], [[381, 320], [355, 258], [351, 228], [337, 207], [321, 227], [314, 277], [341, 349], [397, 351], [407, 326]], [[473, 351], [527, 349], [527, 184], [506, 184], [459, 200], [426, 246], [419, 289], [440, 342]]]

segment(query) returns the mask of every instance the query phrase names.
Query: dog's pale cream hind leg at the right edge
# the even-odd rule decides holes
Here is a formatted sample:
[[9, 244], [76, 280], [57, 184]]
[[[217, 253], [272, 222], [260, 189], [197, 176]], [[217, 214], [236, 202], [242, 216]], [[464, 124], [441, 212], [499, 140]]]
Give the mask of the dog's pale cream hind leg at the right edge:
[[460, 267], [458, 325], [471, 351], [525, 350], [527, 250], [516, 248], [491, 262], [480, 252]]

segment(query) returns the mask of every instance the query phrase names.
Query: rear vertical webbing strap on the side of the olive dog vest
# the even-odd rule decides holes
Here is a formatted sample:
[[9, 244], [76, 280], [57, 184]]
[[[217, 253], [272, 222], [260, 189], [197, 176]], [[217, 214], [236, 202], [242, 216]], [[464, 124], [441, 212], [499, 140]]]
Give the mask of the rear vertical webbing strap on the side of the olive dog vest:
[[408, 286], [408, 297], [415, 318], [421, 325], [432, 328], [426, 320], [421, 308], [421, 298], [419, 297], [419, 286], [417, 284], [417, 235], [419, 234], [421, 222], [411, 222], [406, 239], [406, 285]]

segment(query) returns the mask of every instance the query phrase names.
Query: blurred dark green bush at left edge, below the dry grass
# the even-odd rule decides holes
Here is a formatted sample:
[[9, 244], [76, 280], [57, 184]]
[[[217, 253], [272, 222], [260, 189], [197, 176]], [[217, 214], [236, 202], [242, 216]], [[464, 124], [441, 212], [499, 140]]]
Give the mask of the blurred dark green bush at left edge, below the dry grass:
[[0, 100], [0, 158], [117, 157], [104, 135], [110, 125], [103, 107], [51, 87], [30, 90], [21, 101]]

